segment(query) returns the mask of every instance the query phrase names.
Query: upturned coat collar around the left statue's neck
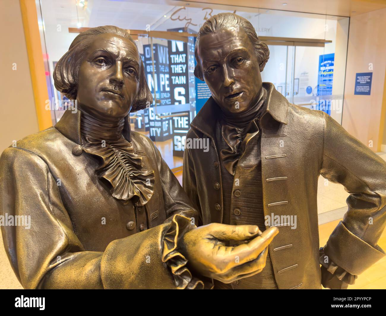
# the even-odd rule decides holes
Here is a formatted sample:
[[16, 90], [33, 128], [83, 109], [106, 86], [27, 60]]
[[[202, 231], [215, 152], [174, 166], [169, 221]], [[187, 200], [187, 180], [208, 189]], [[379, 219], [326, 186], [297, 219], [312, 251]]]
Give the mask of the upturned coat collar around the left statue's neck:
[[[80, 121], [81, 121], [81, 111], [77, 110], [76, 113], [72, 113], [71, 110], [66, 110], [59, 120], [55, 124], [55, 128], [61, 132], [68, 139], [72, 140], [76, 144], [81, 145], [81, 132], [80, 132]], [[124, 128], [122, 131], [123, 137], [131, 142], [131, 133], [130, 133], [130, 119], [129, 115], [125, 117]]]

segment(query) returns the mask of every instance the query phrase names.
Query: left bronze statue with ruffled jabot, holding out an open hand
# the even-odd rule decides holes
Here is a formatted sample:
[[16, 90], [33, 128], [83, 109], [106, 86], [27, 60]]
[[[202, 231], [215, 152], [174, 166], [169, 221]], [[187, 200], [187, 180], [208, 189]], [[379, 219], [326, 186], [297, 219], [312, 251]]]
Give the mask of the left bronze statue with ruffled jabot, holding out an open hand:
[[79, 34], [54, 82], [78, 111], [0, 159], [0, 214], [30, 216], [29, 228], [1, 227], [24, 288], [211, 288], [212, 278], [232, 282], [262, 270], [278, 229], [196, 228], [198, 213], [158, 149], [130, 131], [130, 110], [152, 96], [125, 30]]

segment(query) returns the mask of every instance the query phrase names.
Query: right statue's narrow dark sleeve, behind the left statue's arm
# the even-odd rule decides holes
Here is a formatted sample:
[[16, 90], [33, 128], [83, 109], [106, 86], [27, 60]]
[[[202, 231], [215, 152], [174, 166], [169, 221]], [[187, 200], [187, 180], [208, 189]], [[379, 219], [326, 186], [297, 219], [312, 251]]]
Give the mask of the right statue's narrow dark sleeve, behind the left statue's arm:
[[[191, 131], [188, 132], [188, 135]], [[187, 136], [188, 137], [188, 136]], [[182, 171], [182, 187], [186, 194], [193, 203], [193, 206], [198, 211], [198, 226], [203, 225], [202, 211], [200, 206], [200, 198], [198, 196], [196, 173], [191, 156], [190, 149], [185, 148], [184, 160], [183, 160], [183, 171]]]

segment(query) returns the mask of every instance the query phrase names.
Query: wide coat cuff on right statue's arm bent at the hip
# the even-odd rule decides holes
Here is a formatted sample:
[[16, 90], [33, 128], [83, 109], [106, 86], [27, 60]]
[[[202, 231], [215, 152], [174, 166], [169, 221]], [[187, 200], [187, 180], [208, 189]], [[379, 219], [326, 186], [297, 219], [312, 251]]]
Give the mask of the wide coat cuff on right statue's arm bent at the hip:
[[[361, 274], [385, 256], [379, 246], [372, 247], [351, 233], [342, 221], [328, 238], [323, 252], [329, 257], [330, 262], [334, 262], [352, 275]], [[330, 270], [332, 269], [331, 267]]]

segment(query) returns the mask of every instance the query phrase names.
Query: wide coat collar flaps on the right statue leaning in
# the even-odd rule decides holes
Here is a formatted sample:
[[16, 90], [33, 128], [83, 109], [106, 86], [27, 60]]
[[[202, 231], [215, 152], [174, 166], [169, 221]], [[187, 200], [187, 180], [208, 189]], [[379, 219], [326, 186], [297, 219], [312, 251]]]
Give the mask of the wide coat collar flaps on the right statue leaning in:
[[[275, 89], [274, 84], [263, 82], [262, 85], [267, 90], [267, 96], [263, 105], [264, 109], [260, 119], [262, 127], [269, 126], [270, 118], [279, 123], [287, 124], [288, 100]], [[204, 133], [214, 137], [216, 122], [220, 115], [221, 109], [211, 96], [197, 113], [190, 126], [197, 136], [202, 136], [200, 134]]]

